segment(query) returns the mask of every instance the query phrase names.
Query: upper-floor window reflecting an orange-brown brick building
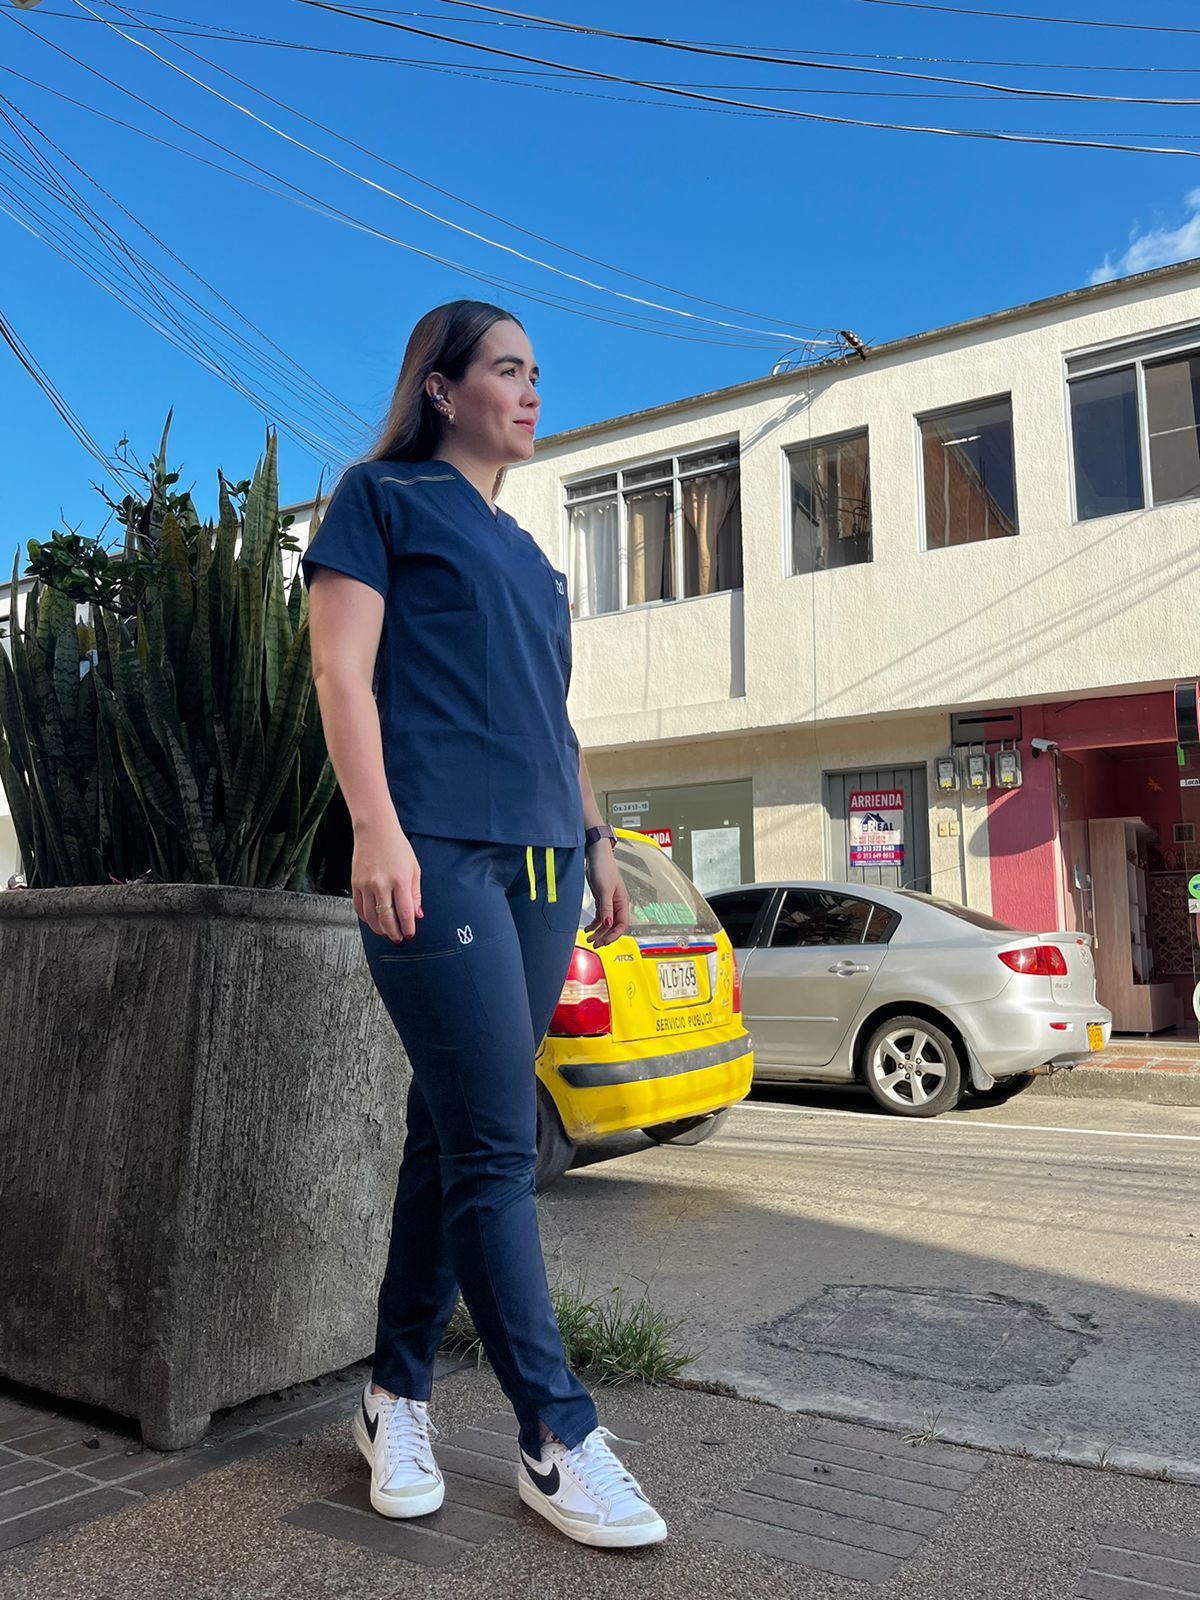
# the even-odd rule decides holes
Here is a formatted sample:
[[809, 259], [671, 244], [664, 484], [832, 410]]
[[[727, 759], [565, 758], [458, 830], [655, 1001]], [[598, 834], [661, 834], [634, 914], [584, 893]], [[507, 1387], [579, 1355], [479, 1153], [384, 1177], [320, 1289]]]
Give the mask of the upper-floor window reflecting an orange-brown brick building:
[[1016, 533], [1013, 403], [1008, 397], [920, 419], [925, 549]]

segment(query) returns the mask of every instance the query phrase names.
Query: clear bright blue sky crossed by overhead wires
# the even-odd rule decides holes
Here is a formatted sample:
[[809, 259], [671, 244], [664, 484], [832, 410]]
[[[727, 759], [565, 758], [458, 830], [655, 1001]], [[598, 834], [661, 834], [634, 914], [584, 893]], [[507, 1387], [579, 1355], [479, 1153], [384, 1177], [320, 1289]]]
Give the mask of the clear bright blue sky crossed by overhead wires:
[[[125, 26], [107, 0], [88, 3]], [[477, 72], [496, 72], [496, 62], [459, 46], [325, 14], [299, 0], [154, 3], [184, 19], [184, 26], [253, 30], [336, 50], [461, 62]], [[1013, 8], [1018, 3], [1013, 0]], [[1067, 16], [1126, 21], [1131, 14], [1122, 0], [1088, 0], [1086, 6], [1061, 0], [1061, 5], [1069, 6]], [[416, 18], [416, 10], [427, 19]], [[1059, 6], [1046, 10], [1064, 14]], [[206, 133], [258, 162], [275, 179], [298, 184], [370, 227], [467, 267], [520, 280], [538, 293], [587, 299], [602, 307], [600, 315], [624, 318], [637, 310], [454, 235], [334, 171], [96, 24], [77, 0], [43, 0], [30, 11], [14, 11], [10, 0], [0, 0], [0, 62], [11, 69], [0, 70], [0, 94], [16, 128], [29, 134], [29, 123], [18, 114], [30, 118], [62, 155], [160, 235], [187, 267], [362, 419], [336, 438], [330, 437], [328, 419], [323, 419], [315, 429], [322, 443], [315, 445], [282, 432], [285, 499], [306, 498], [322, 467], [328, 477], [366, 446], [386, 408], [413, 322], [429, 306], [461, 294], [499, 299], [523, 315], [544, 373], [542, 419], [549, 432], [739, 382], [766, 373], [774, 360], [768, 349], [686, 342], [574, 317], [531, 302], [517, 291], [482, 286], [459, 270], [245, 187], [136, 133], [96, 120], [85, 107], [126, 118], [195, 150], [203, 149], [195, 133]], [[126, 8], [126, 18], [131, 14], [133, 8]], [[136, 14], [160, 27], [174, 26], [162, 21], [163, 13]], [[410, 0], [405, 11], [394, 3], [390, 14], [459, 38], [653, 82], [755, 85], [762, 86], [757, 93], [728, 93], [803, 110], [1075, 138], [1149, 134], [1142, 142], [1152, 144], [1187, 146], [1190, 133], [1189, 147], [1200, 150], [1195, 110], [1186, 107], [878, 98], [861, 91], [922, 94], [939, 90], [938, 85], [840, 72], [722, 62], [512, 26], [498, 29], [466, 21], [470, 13], [445, 0]], [[819, 5], [754, 0], [738, 8], [710, 0], [688, 0], [686, 5], [678, 0], [608, 0], [603, 6], [595, 0], [544, 0], [542, 14], [610, 29], [768, 50], [787, 46], [813, 54], [842, 51], [1008, 62], [923, 66], [914, 59], [894, 66], [1021, 86], [1200, 98], [1200, 67], [1157, 75], [1117, 70], [1118, 66], [1170, 69], [1189, 56], [1200, 59], [1195, 50], [1200, 35], [1037, 26], [877, 0], [821, 0]], [[1155, 0], [1152, 14], [1136, 14], [1138, 21], [1163, 29], [1189, 29], [1195, 22], [1184, 0]], [[293, 120], [286, 110], [232, 86], [213, 67], [174, 54], [173, 45], [144, 32], [136, 37], [254, 107], [293, 138], [312, 142], [406, 198], [568, 270], [602, 277], [627, 293], [666, 298], [563, 253], [547, 254], [547, 246], [421, 189], [371, 155], [354, 152]], [[118, 88], [99, 83], [54, 54], [51, 43], [142, 94], [192, 131], [181, 133], [158, 122], [152, 110], [134, 106]], [[1189, 158], [723, 115], [637, 104], [648, 99], [643, 91], [611, 85], [573, 82], [566, 86], [592, 93], [550, 93], [528, 82], [482, 82], [456, 70], [422, 70], [253, 43], [197, 38], [182, 43], [358, 146], [510, 222], [675, 290], [744, 307], [758, 318], [776, 318], [789, 330], [802, 331], [802, 325], [851, 328], [867, 342], [882, 342], [1080, 286], [1106, 262], [1109, 272], [1118, 274], [1200, 254], [1200, 163]], [[842, 59], [854, 64], [848, 56]], [[1051, 70], [1018, 62], [1046, 62]], [[864, 59], [856, 64], [886, 66]], [[1096, 67], [1104, 70], [1083, 70]], [[54, 99], [13, 72], [67, 99]], [[832, 90], [838, 93], [829, 93]], [[939, 93], [978, 91], [942, 86]], [[0, 125], [0, 182], [11, 182], [8, 149], [19, 149], [19, 144], [13, 131]], [[80, 192], [120, 224], [122, 235], [144, 248], [170, 278], [210, 302], [208, 291], [147, 243], [131, 221], [88, 187], [78, 170], [64, 168], [62, 155], [54, 155], [56, 163]], [[18, 194], [27, 197], [29, 189]], [[0, 194], [0, 205], [11, 210], [14, 202]], [[202, 512], [213, 504], [218, 467], [234, 477], [253, 470], [277, 402], [256, 403], [235, 394], [6, 214], [0, 214], [0, 240], [5, 285], [0, 310], [106, 450], [128, 437], [139, 454], [149, 454], [173, 406], [173, 461], [187, 482], [195, 482]], [[694, 301], [672, 299], [672, 304], [704, 310]], [[710, 315], [746, 320], [725, 312]], [[662, 320], [680, 331], [725, 338], [704, 325]], [[779, 342], [781, 354], [787, 344], [787, 339]], [[304, 405], [299, 386], [285, 382], [282, 389], [291, 408]], [[0, 413], [6, 467], [0, 562], [6, 573], [14, 549], [30, 536], [42, 538], [54, 526], [98, 533], [102, 506], [91, 488], [99, 469], [3, 346]]]

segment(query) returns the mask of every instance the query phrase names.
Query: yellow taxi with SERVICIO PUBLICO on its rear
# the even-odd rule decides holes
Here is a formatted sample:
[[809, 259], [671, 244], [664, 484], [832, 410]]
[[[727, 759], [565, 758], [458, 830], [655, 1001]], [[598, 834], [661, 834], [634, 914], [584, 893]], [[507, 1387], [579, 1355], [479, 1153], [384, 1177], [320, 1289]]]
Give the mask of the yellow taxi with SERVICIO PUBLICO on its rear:
[[699, 1144], [744, 1099], [754, 1074], [733, 947], [699, 890], [645, 834], [616, 829], [627, 933], [598, 950], [582, 930], [538, 1051], [538, 1165], [546, 1189], [579, 1144], [643, 1130]]

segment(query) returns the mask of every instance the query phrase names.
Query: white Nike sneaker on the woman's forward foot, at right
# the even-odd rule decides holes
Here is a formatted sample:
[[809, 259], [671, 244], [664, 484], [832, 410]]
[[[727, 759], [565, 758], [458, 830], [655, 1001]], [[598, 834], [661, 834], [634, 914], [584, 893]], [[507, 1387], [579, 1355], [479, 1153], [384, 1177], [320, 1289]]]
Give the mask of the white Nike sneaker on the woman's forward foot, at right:
[[547, 1438], [541, 1461], [522, 1450], [517, 1491], [526, 1506], [579, 1544], [605, 1549], [658, 1544], [666, 1539], [667, 1525], [608, 1448], [606, 1442], [616, 1437], [606, 1427], [595, 1427], [574, 1450]]

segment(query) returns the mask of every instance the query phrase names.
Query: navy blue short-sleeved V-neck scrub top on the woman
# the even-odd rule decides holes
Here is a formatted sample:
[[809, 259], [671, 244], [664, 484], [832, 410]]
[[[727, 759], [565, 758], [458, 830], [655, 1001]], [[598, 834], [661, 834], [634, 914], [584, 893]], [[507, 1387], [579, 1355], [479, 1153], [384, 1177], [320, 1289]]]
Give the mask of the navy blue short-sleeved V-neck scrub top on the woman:
[[411, 834], [582, 845], [566, 578], [448, 461], [365, 461], [302, 557], [384, 597], [376, 702]]

